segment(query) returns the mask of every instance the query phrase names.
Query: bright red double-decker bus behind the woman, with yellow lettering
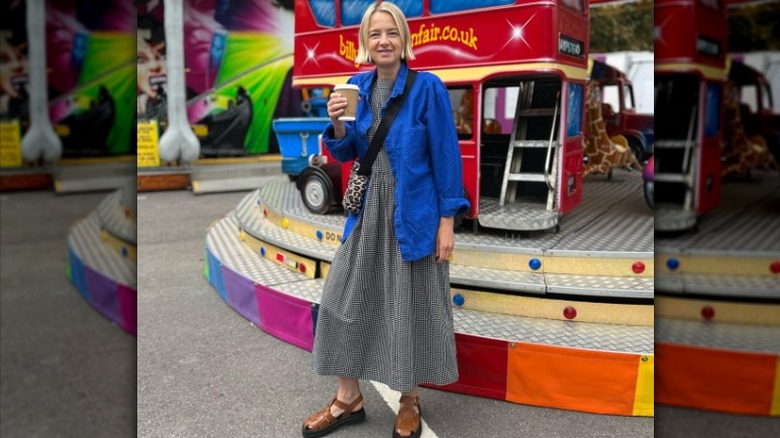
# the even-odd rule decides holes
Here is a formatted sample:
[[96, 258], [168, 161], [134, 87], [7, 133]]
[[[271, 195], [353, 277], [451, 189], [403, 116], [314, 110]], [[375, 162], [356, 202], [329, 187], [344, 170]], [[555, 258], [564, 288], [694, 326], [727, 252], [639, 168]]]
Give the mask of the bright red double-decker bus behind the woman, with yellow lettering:
[[[295, 87], [332, 87], [359, 71], [373, 69], [373, 65], [355, 63], [359, 22], [371, 3], [296, 0]], [[510, 186], [514, 181], [505, 176], [501, 188], [498, 178], [492, 186], [481, 181], [481, 173], [489, 170], [481, 152], [486, 136], [506, 143], [494, 151], [493, 165], [498, 167], [502, 161], [510, 162], [505, 159], [507, 148], [513, 147], [510, 137], [517, 144], [547, 141], [549, 137], [555, 149], [553, 159], [548, 159], [554, 164], [546, 169], [547, 179], [554, 178], [547, 185], [556, 191], [552, 210], [560, 216], [576, 207], [582, 196], [587, 1], [420, 0], [396, 4], [409, 22], [416, 56], [410, 67], [439, 76], [451, 92], [454, 113], [470, 113], [468, 117], [481, 121], [473, 129], [459, 130], [464, 187], [472, 204], [469, 217], [479, 216], [480, 200], [486, 193], [499, 198], [506, 191], [507, 180]], [[542, 126], [531, 118], [526, 122], [533, 122], [531, 129], [520, 129], [518, 120], [525, 116], [519, 111], [528, 117], [546, 116], [542, 122], [546, 131], [529, 134], [534, 126]], [[459, 115], [453, 116], [457, 124]], [[485, 132], [486, 119], [494, 122], [490, 134]], [[521, 131], [523, 134], [518, 134]], [[504, 198], [501, 200], [503, 205]]]

